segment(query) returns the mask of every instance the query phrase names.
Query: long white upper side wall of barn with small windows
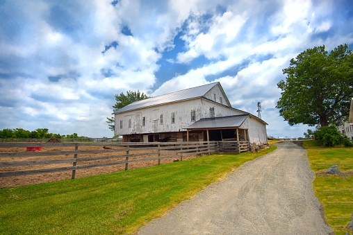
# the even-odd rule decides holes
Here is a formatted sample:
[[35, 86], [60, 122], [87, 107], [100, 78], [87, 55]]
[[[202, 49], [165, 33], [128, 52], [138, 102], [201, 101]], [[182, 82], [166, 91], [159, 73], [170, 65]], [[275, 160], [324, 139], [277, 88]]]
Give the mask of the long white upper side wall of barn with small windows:
[[[213, 93], [212, 93], [213, 94]], [[243, 114], [239, 110], [233, 110], [227, 106], [196, 98], [190, 101], [169, 103], [156, 107], [147, 107], [141, 110], [115, 114], [115, 135], [156, 133], [156, 132], [179, 132], [190, 125], [191, 110], [195, 110], [195, 121], [210, 117], [210, 108], [214, 107], [215, 116], [230, 116]], [[174, 112], [174, 123], [172, 113]], [[161, 123], [163, 114], [163, 123]], [[145, 126], [142, 126], [142, 118], [145, 116]], [[129, 128], [131, 119], [131, 128]], [[120, 121], [122, 120], [122, 128]]]

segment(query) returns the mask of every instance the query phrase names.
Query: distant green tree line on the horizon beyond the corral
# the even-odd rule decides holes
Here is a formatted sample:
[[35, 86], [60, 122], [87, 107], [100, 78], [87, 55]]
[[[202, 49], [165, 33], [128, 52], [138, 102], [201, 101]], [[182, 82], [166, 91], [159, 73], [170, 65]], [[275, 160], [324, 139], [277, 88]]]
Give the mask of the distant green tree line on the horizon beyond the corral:
[[24, 130], [22, 128], [15, 129], [3, 129], [0, 130], [0, 139], [63, 139], [63, 138], [75, 138], [83, 139], [88, 137], [79, 137], [77, 133], [74, 134], [54, 134], [49, 133], [47, 128], [38, 128], [36, 130]]

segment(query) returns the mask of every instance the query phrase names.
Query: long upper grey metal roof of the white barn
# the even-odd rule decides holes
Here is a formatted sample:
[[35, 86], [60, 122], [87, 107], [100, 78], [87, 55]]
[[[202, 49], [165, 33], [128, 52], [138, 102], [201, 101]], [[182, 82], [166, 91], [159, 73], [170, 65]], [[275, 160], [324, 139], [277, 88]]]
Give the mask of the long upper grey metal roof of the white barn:
[[127, 112], [130, 110], [138, 110], [144, 107], [151, 107], [156, 105], [163, 105], [165, 103], [171, 103], [176, 101], [185, 101], [191, 98], [198, 98], [204, 96], [212, 87], [219, 84], [220, 82], [213, 82], [207, 85], [202, 85], [199, 87], [192, 87], [189, 89], [183, 89], [181, 91], [172, 92], [169, 94], [164, 94], [161, 96], [147, 98], [142, 101], [135, 101], [125, 107], [122, 107], [120, 110], [115, 111], [115, 114], [121, 112]]

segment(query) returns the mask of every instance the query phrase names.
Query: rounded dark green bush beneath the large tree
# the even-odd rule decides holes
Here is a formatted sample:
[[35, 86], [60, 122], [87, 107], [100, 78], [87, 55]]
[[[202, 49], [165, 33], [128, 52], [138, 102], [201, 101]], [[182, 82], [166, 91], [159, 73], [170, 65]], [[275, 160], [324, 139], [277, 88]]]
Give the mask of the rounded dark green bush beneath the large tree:
[[343, 137], [333, 125], [323, 126], [314, 133], [315, 139], [324, 146], [336, 146], [343, 143]]

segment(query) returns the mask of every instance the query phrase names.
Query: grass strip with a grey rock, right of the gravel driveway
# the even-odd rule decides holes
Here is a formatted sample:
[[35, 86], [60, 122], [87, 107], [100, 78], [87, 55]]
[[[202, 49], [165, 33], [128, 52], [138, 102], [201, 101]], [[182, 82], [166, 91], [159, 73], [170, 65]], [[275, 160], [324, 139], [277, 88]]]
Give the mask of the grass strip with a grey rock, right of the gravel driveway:
[[[347, 229], [353, 213], [353, 148], [319, 146], [316, 141], [304, 141], [311, 168], [316, 173], [315, 194], [325, 209], [327, 223], [335, 234], [352, 233]], [[346, 175], [325, 174], [338, 165]]]

